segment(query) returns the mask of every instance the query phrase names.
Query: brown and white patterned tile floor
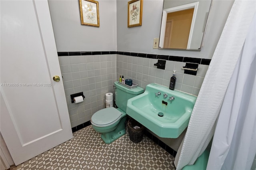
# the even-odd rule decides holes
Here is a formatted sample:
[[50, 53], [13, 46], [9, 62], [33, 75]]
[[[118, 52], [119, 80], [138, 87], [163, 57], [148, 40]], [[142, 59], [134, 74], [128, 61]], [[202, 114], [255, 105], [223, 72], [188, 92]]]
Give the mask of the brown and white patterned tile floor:
[[92, 125], [73, 135], [71, 140], [10, 170], [175, 170], [174, 157], [145, 135], [134, 143], [127, 132], [105, 144]]

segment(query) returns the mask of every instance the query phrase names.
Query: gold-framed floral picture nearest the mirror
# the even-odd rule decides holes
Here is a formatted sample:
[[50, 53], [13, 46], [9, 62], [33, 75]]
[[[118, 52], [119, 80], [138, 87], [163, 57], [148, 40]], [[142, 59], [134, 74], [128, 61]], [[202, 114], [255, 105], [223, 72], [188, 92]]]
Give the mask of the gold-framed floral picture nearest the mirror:
[[128, 2], [128, 27], [142, 25], [142, 1], [132, 0]]

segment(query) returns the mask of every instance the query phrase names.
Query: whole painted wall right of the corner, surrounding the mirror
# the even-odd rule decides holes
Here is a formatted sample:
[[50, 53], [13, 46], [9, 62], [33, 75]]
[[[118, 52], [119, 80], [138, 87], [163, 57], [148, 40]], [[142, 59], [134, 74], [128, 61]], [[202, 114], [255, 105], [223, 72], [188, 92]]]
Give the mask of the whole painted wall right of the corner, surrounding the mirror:
[[127, 28], [128, 0], [117, 1], [117, 50], [137, 53], [174, 55], [211, 59], [234, 0], [212, 3], [201, 51], [153, 49], [153, 39], [160, 36], [163, 0], [144, 0], [142, 26]]

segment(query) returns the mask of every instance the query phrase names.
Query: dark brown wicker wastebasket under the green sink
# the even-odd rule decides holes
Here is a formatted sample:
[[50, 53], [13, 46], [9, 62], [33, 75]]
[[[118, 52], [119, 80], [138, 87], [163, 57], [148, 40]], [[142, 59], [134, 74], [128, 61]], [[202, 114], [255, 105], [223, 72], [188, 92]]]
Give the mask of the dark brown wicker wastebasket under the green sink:
[[[137, 121], [135, 121], [134, 119], [129, 119], [127, 126], [130, 140], [135, 143], [140, 142], [143, 138], [143, 131], [145, 127]], [[138, 126], [140, 128], [135, 129], [135, 126]]]

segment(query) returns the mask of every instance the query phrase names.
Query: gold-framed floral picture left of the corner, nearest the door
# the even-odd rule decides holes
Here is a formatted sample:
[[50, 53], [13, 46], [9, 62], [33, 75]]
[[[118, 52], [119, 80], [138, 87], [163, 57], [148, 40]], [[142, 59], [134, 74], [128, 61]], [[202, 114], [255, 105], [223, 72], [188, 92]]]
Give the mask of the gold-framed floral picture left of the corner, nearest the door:
[[94, 0], [79, 0], [81, 24], [87, 26], [100, 26], [99, 5]]

